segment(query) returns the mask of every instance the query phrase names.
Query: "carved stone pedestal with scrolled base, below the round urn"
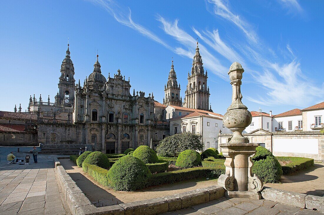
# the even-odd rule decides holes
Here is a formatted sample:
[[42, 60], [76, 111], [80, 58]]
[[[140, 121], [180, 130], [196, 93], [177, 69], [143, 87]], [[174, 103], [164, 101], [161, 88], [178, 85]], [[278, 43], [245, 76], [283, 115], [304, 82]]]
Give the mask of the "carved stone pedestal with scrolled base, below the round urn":
[[258, 143], [226, 143], [221, 144], [226, 157], [226, 172], [218, 178], [218, 185], [227, 190], [230, 198], [260, 199], [263, 181], [252, 173], [252, 157]]

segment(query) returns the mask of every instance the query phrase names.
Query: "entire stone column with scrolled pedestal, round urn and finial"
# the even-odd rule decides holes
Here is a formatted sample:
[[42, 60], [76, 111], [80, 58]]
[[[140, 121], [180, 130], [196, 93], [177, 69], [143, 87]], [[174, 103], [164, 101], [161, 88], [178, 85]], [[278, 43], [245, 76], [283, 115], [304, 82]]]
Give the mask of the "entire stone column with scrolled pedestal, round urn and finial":
[[258, 143], [249, 143], [249, 138], [242, 136], [242, 131], [251, 123], [252, 116], [248, 108], [242, 104], [241, 84], [244, 69], [241, 64], [234, 62], [229, 68], [228, 75], [232, 85], [232, 104], [227, 108], [223, 123], [233, 135], [228, 143], [220, 144], [221, 151], [226, 157], [225, 174], [218, 178], [218, 185], [226, 189], [225, 195], [230, 198], [261, 199], [260, 190], [263, 181], [252, 173], [255, 148]]

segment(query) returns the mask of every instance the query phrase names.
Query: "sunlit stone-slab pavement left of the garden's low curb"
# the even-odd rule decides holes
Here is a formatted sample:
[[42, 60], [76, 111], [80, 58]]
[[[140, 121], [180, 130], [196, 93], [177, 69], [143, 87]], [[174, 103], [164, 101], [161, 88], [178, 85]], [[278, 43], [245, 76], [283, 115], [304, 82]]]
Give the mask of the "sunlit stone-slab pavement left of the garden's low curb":
[[[4, 157], [3, 152], [1, 156]], [[50, 155], [39, 155], [30, 165], [0, 162], [0, 215], [71, 215], [62, 200]]]

